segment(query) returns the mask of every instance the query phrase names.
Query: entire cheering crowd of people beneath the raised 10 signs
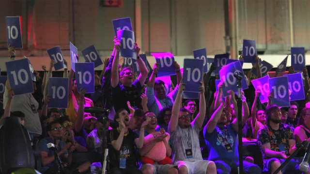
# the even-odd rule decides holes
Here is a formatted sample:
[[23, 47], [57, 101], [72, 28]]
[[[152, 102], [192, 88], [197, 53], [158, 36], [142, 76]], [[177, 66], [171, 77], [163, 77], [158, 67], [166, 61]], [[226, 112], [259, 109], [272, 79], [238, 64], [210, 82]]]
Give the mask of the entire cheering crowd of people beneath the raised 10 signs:
[[[20, 118], [33, 148], [40, 151], [42, 165], [38, 170], [43, 174], [58, 170], [54, 151], [47, 147], [48, 143], [56, 143], [60, 159], [70, 171], [77, 173], [99, 173], [104, 147], [109, 149], [107, 170], [110, 174], [230, 174], [237, 171], [236, 96], [230, 90], [229, 95], [223, 97], [223, 82], [216, 90], [218, 77], [211, 76], [215, 66], [203, 76], [198, 87], [199, 99], [185, 100], [183, 92], [188, 84], [183, 83], [177, 62], [172, 67], [176, 71], [176, 85], [166, 92], [165, 83], [155, 79], [158, 63], [148, 78], [148, 69], [138, 56], [138, 76], [132, 68], [120, 66], [121, 43], [116, 38], [113, 41], [111, 57], [104, 61], [102, 73], [95, 75], [93, 94], [86, 94], [84, 88], [78, 91], [75, 72], [64, 69], [63, 77], [69, 78], [66, 109], [48, 107], [48, 83], [54, 61], [50, 62], [43, 78], [36, 73], [32, 94], [14, 95], [14, 89], [6, 82], [0, 118]], [[135, 50], [139, 55], [136, 43]], [[9, 53], [14, 60], [15, 48], [9, 47]], [[310, 141], [310, 108], [306, 107], [310, 102], [310, 83], [305, 67], [302, 72], [306, 77], [305, 100], [291, 102], [290, 107], [278, 107], [271, 102], [271, 92], [269, 102], [262, 104], [261, 91], [255, 90], [251, 83], [262, 77], [259, 58], [255, 60], [246, 74], [249, 88], [242, 91], [243, 130], [239, 133], [243, 141], [257, 140], [263, 166], [255, 164], [251, 157], [244, 157], [242, 167], [246, 174], [273, 174], [294, 153], [296, 143]], [[47, 70], [45, 66], [43, 69]], [[257, 77], [251, 73], [254, 69]], [[288, 71], [295, 73], [294, 67]], [[93, 106], [109, 107], [109, 116], [84, 111], [85, 107]], [[208, 149], [207, 156], [202, 154], [202, 145]], [[299, 164], [305, 153], [305, 149], [299, 151], [280, 174], [301, 173]]]

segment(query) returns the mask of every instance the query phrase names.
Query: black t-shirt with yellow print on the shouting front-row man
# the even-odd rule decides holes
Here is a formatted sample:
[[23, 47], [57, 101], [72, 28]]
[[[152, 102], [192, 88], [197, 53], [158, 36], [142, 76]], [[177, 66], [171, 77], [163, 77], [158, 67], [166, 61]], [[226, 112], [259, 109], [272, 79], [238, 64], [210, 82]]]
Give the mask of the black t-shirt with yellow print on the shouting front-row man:
[[135, 139], [139, 138], [138, 134], [131, 129], [124, 134], [122, 146], [119, 151], [115, 150], [111, 142], [117, 140], [120, 133], [118, 129], [108, 131], [107, 144], [109, 148], [110, 169], [120, 167], [120, 158], [126, 159], [126, 168], [136, 165], [135, 158]]

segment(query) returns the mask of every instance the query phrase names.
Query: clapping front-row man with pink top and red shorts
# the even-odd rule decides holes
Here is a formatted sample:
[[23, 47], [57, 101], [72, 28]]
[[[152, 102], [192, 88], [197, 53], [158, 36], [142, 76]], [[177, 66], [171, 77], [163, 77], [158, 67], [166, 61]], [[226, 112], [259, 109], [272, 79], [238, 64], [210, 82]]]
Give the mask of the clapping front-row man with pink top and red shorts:
[[[154, 113], [145, 113], [143, 119], [150, 119], [151, 121], [146, 125], [144, 132], [145, 136], [149, 135], [148, 139], [145, 139], [148, 142], [145, 142], [145, 145], [139, 151], [141, 161], [144, 163], [140, 170], [143, 174], [178, 174], [178, 170], [174, 168], [176, 165], [171, 165], [171, 159], [169, 158], [172, 153], [168, 143], [170, 135], [162, 128], [160, 131], [156, 130], [157, 118]], [[160, 161], [152, 160], [151, 158], [154, 156]], [[160, 165], [163, 163], [165, 165]]]

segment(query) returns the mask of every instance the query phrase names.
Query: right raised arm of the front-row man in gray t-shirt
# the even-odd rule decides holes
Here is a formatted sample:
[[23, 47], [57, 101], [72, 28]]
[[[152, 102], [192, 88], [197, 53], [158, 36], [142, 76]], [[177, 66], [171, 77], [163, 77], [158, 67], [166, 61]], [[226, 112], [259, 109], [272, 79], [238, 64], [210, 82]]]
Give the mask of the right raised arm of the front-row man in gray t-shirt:
[[198, 90], [200, 90], [199, 93], [199, 113], [196, 116], [196, 118], [194, 119], [194, 122], [198, 125], [198, 128], [201, 130], [202, 129], [202, 124], [205, 118], [205, 110], [206, 110], [206, 106], [205, 106], [205, 98], [204, 98], [204, 84], [203, 84], [203, 80], [202, 82], [200, 82], [202, 84], [202, 86], [198, 87]]

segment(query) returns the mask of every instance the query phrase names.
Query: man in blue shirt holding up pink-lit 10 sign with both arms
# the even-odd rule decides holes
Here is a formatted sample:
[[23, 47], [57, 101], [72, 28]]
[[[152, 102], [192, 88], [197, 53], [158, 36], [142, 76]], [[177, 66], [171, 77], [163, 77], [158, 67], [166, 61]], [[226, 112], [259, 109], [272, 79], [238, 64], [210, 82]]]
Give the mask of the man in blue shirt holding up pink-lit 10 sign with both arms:
[[[177, 83], [179, 84], [182, 78], [182, 74], [180, 71], [180, 65], [176, 61], [174, 62], [174, 68], [177, 72]], [[172, 92], [166, 95], [165, 83], [161, 80], [155, 80], [158, 69], [159, 64], [155, 63], [153, 73], [150, 76], [150, 80], [147, 83], [146, 87], [146, 95], [148, 98], [147, 106], [149, 110], [153, 112], [156, 116], [162, 108], [173, 104], [179, 88], [177, 85]]]

